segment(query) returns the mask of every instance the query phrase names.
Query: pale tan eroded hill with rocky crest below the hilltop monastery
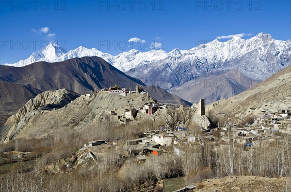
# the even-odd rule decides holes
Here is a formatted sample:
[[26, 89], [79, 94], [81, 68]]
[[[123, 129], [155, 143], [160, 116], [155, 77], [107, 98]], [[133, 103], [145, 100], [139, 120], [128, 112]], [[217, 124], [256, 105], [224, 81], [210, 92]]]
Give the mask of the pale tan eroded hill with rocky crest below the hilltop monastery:
[[[50, 96], [46, 96], [47, 93], [44, 92], [29, 101], [3, 125], [0, 141], [43, 138], [65, 128], [74, 129], [81, 134], [86, 129], [97, 127], [102, 132], [111, 126], [129, 123], [121, 122], [126, 109], [138, 111], [145, 103], [153, 102], [152, 98], [142, 94], [122, 96], [98, 92], [90, 96], [81, 95], [72, 102], [60, 105], [65, 98], [65, 101], [70, 101], [68, 93], [60, 94], [62, 90], [65, 89], [49, 91]], [[153, 118], [147, 114], [138, 114], [130, 123]]]

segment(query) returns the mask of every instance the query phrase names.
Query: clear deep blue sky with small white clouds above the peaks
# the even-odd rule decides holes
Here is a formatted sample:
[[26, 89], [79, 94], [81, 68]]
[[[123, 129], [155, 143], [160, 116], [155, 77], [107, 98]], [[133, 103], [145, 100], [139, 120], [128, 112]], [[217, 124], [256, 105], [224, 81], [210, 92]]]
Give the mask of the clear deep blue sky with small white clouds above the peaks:
[[234, 34], [291, 39], [290, 0], [0, 3], [0, 64], [26, 59], [48, 42], [67, 51], [82, 45], [117, 55], [130, 48], [190, 49]]

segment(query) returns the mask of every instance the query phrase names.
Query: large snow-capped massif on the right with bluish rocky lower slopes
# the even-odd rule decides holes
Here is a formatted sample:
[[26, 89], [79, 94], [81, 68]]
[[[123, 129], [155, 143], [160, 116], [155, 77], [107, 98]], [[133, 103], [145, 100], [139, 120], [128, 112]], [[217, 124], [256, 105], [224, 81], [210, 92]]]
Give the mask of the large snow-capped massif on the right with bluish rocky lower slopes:
[[[259, 33], [250, 39], [214, 40], [190, 50], [174, 49], [158, 62], [140, 62], [126, 73], [147, 85], [160, 81], [164, 89], [173, 89], [197, 77], [225, 73], [234, 68], [264, 80], [291, 64], [291, 41], [274, 40]], [[162, 82], [161, 82], [162, 81]]]

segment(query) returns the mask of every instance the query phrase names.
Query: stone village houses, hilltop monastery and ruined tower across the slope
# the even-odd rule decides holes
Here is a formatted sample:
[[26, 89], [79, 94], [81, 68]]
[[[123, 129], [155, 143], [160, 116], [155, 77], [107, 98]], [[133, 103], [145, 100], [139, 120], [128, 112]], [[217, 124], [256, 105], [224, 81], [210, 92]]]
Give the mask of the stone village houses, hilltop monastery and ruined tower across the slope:
[[[124, 96], [143, 94], [149, 97], [148, 93], [138, 86], [136, 91], [114, 86], [99, 92]], [[113, 110], [111, 115], [117, 116], [122, 122], [129, 123], [139, 116], [138, 114], [153, 116], [158, 113], [166, 115], [168, 107], [168, 105], [152, 100], [141, 108], [124, 109], [124, 111]], [[176, 110], [183, 110], [183, 106], [176, 106]], [[171, 152], [182, 157], [188, 148], [187, 146], [200, 145], [204, 147], [205, 143], [211, 143], [217, 151], [232, 145], [241, 146], [247, 152], [257, 150], [261, 145], [269, 146], [274, 141], [279, 141], [282, 135], [291, 135], [291, 107], [280, 111], [256, 111], [256, 115], [253, 113], [254, 110], [254, 108], [250, 108], [248, 115], [240, 122], [226, 120], [226, 118], [210, 119], [211, 117], [206, 116], [204, 99], [201, 99], [199, 103], [194, 103], [189, 108], [192, 116], [189, 120], [195, 123], [196, 130], [183, 127], [179, 121], [175, 129], [171, 129], [169, 126], [148, 127], [139, 138], [108, 143], [105, 140], [91, 141], [79, 150], [81, 153], [90, 152], [92, 154], [90, 157], [96, 161], [94, 153], [98, 150], [97, 146], [122, 145], [129, 157], [136, 158], [137, 162], [145, 162], [151, 155], [167, 156], [169, 150], [173, 150]], [[159, 118], [159, 116], [155, 118]], [[95, 149], [95, 147], [97, 148]]]

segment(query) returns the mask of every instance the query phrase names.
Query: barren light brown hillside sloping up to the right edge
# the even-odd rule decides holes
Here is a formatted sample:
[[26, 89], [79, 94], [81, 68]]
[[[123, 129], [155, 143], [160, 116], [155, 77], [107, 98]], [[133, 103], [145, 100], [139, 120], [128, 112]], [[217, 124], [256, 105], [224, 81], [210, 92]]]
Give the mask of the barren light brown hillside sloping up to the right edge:
[[[255, 87], [229, 99], [207, 106], [219, 117], [234, 117], [261, 111], [270, 112], [291, 107], [291, 66], [286, 67]], [[255, 110], [250, 111], [250, 108]]]

